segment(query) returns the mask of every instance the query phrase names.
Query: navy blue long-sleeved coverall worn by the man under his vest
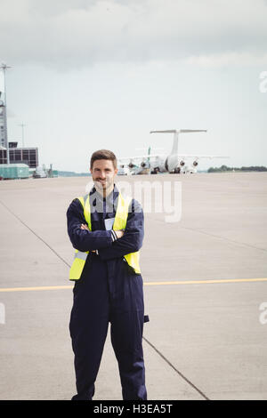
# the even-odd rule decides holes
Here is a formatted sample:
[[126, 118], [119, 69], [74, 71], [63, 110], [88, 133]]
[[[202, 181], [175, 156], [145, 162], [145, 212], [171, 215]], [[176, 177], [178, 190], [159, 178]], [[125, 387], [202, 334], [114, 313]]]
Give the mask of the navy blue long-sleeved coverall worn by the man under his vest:
[[125, 234], [115, 239], [114, 231], [106, 230], [105, 220], [115, 218], [117, 196], [116, 185], [107, 199], [95, 188], [91, 190], [90, 232], [80, 228], [86, 221], [78, 199], [72, 201], [67, 211], [68, 233], [74, 248], [82, 252], [98, 250], [98, 254], [88, 254], [82, 276], [73, 289], [69, 332], [75, 355], [75, 400], [93, 398], [109, 322], [123, 399], [147, 399], [142, 331], [149, 317], [144, 316], [142, 276], [124, 260], [125, 254], [142, 247], [143, 213], [133, 199]]

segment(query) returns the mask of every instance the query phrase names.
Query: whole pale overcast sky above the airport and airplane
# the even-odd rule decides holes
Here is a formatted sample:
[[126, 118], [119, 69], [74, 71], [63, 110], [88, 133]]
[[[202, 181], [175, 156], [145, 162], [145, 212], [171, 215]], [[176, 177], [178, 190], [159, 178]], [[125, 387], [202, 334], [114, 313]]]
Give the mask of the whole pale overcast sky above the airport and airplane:
[[[172, 148], [267, 165], [265, 0], [0, 0], [9, 141], [84, 172], [92, 152]], [[266, 73], [267, 78], [267, 73]], [[265, 84], [267, 85], [267, 83]], [[4, 90], [0, 75], [0, 91]]]

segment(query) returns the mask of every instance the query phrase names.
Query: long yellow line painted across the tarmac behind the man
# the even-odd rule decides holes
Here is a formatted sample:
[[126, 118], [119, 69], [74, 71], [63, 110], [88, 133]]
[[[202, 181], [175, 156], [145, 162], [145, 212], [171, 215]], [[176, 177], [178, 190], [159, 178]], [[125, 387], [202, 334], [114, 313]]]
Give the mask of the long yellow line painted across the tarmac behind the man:
[[[266, 278], [224, 278], [215, 280], [179, 280], [174, 282], [144, 282], [143, 285], [203, 285], [211, 283], [244, 283], [244, 282], [267, 282]], [[35, 287], [0, 287], [0, 292], [30, 292], [35, 290], [61, 290], [72, 289], [73, 285], [47, 285]]]

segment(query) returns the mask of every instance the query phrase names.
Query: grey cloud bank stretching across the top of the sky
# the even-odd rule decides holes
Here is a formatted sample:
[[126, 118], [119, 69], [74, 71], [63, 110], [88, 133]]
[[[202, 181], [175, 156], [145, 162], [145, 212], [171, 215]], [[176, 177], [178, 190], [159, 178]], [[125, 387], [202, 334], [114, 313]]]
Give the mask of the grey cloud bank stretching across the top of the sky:
[[239, 55], [253, 64], [266, 50], [265, 0], [0, 0], [0, 7], [0, 60], [12, 65], [225, 65]]

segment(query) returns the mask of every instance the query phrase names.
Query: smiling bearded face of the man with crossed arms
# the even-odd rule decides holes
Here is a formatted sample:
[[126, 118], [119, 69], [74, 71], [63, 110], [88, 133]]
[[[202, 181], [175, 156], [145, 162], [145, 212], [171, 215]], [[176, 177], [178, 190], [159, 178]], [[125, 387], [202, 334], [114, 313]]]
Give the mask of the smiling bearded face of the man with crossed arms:
[[113, 189], [117, 168], [114, 168], [111, 160], [95, 160], [90, 172], [92, 173], [95, 188], [98, 191], [106, 193], [107, 191], [109, 192], [110, 189]]

